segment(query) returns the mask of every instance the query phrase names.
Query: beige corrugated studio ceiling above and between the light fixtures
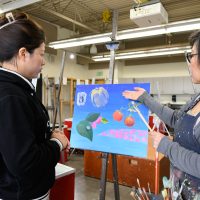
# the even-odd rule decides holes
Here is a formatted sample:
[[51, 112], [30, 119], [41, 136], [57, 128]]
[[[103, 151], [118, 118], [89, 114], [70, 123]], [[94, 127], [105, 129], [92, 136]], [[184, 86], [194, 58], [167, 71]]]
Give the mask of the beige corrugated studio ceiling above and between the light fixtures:
[[[118, 11], [118, 31], [138, 28], [130, 20], [130, 9], [136, 2], [144, 0], [42, 0], [19, 8], [34, 17], [74, 31], [73, 37], [112, 32], [112, 23], [104, 23], [102, 14], [106, 10]], [[147, 0], [146, 0], [147, 1]], [[168, 22], [200, 17], [199, 0], [161, 0], [168, 13]], [[153, 38], [121, 41], [119, 51], [156, 48], [157, 46], [185, 45], [190, 33], [161, 35]], [[63, 38], [65, 39], [65, 38]], [[105, 45], [97, 46], [98, 53], [106, 51]], [[89, 52], [84, 52], [87, 56]]]

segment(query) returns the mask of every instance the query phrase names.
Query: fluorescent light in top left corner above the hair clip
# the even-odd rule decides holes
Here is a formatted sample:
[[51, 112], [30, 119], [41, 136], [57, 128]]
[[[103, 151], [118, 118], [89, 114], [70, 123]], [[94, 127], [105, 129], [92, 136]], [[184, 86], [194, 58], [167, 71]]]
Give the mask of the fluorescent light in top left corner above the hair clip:
[[41, 0], [2, 0], [0, 1], [0, 14], [36, 3]]

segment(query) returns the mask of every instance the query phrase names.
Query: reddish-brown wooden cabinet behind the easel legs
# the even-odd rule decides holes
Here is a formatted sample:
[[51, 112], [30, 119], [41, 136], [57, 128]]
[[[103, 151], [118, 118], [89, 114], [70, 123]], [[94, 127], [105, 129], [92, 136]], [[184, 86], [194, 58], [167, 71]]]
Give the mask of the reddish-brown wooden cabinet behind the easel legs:
[[[94, 178], [101, 177], [101, 157], [101, 152], [84, 151], [85, 176]], [[119, 184], [130, 187], [138, 187], [138, 178], [141, 187], [145, 187], [145, 189], [148, 191], [149, 183], [151, 192], [155, 192], [155, 150], [153, 149], [150, 141], [148, 145], [148, 156], [145, 159], [132, 156], [117, 155], [117, 171]], [[159, 191], [161, 191], [163, 188], [163, 176], [169, 177], [169, 160], [160, 154], [158, 161]], [[109, 155], [108, 161], [107, 180], [113, 180], [111, 155]]]

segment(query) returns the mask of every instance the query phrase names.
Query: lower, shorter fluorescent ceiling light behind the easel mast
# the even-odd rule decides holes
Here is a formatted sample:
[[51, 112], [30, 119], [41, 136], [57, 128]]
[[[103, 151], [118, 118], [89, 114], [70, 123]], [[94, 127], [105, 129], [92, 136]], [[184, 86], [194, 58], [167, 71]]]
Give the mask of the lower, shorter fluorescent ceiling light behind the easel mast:
[[[191, 47], [172, 47], [172, 48], [163, 48], [163, 49], [152, 49], [147, 51], [132, 51], [127, 53], [118, 53], [115, 54], [116, 60], [129, 59], [129, 58], [143, 58], [143, 57], [156, 57], [164, 55], [177, 55], [184, 54], [185, 51], [190, 51]], [[98, 61], [109, 61], [110, 54], [93, 56], [92, 59], [96, 62]]]

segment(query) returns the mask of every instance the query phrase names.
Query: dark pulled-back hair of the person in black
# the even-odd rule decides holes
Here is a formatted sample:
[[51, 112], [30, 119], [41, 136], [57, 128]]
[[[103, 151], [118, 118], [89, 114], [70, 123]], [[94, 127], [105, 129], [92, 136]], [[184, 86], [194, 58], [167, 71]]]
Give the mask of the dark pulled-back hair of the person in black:
[[43, 29], [26, 14], [16, 14], [14, 19], [10, 24], [6, 17], [0, 19], [0, 62], [11, 60], [22, 47], [32, 53], [45, 42]]

